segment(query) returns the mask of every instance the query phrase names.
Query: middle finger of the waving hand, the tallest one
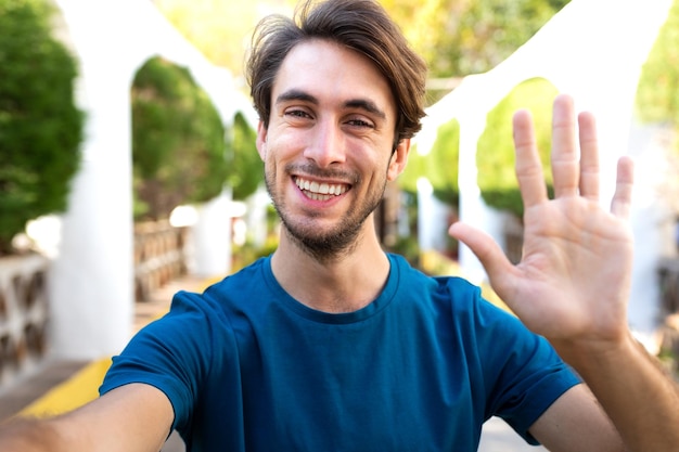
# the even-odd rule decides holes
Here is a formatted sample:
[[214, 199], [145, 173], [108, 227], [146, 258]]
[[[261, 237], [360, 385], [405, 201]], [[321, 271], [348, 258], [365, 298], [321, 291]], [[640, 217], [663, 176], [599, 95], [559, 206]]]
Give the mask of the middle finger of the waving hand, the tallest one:
[[561, 94], [554, 99], [552, 115], [552, 175], [554, 196], [578, 194], [579, 164], [575, 141], [573, 99]]

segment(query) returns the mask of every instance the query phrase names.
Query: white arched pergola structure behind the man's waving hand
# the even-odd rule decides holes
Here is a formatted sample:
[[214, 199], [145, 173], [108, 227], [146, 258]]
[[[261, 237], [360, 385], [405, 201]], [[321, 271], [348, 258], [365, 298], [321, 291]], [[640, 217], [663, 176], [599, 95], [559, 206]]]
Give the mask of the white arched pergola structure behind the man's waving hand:
[[[572, 94], [578, 109], [597, 115], [605, 170], [601, 198], [610, 204], [615, 189], [615, 162], [629, 154], [637, 162], [637, 188], [632, 224], [636, 260], [629, 318], [632, 328], [650, 338], [657, 327], [658, 284], [656, 266], [666, 249], [652, 178], [644, 178], [648, 140], [633, 121], [633, 102], [641, 66], [670, 0], [573, 0], [525, 46], [492, 70], [466, 77], [461, 85], [427, 111], [418, 150], [426, 153], [437, 128], [457, 118], [460, 124], [460, 218], [503, 242], [501, 221], [488, 209], [476, 184], [476, 142], [486, 127], [487, 113], [515, 86], [542, 77], [561, 92]], [[651, 175], [652, 177], [657, 175]], [[430, 217], [427, 217], [430, 218]], [[430, 222], [432, 223], [432, 222]], [[447, 228], [440, 222], [444, 230]], [[486, 277], [481, 262], [464, 246], [460, 260], [467, 277]]]

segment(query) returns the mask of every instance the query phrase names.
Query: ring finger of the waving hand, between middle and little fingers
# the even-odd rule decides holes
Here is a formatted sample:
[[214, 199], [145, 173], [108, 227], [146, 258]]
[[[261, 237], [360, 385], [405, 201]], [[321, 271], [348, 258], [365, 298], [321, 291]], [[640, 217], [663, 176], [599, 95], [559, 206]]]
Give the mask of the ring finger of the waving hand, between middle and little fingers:
[[578, 116], [580, 135], [580, 196], [599, 199], [599, 142], [594, 115], [584, 112]]

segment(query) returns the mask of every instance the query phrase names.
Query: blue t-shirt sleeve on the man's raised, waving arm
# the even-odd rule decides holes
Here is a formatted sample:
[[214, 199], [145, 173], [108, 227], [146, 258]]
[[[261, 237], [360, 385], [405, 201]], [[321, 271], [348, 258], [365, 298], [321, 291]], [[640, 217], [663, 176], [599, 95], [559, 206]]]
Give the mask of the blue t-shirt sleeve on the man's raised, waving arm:
[[488, 414], [503, 418], [527, 442], [537, 444], [528, 428], [580, 379], [547, 339], [517, 318], [485, 300], [477, 310], [483, 332], [477, 334], [478, 348], [486, 351], [482, 360]]

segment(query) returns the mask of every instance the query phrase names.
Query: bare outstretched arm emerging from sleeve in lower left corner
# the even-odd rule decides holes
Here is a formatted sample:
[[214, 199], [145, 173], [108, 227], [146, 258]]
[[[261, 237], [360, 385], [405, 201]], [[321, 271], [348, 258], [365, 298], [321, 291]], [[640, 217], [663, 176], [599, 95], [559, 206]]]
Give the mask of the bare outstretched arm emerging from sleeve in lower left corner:
[[172, 419], [172, 406], [162, 391], [132, 384], [57, 417], [10, 421], [0, 426], [0, 450], [157, 452]]

